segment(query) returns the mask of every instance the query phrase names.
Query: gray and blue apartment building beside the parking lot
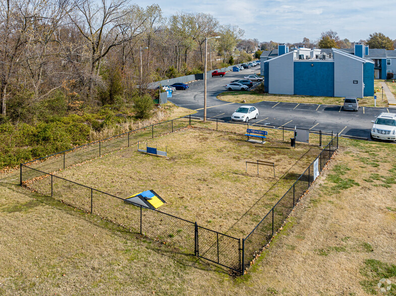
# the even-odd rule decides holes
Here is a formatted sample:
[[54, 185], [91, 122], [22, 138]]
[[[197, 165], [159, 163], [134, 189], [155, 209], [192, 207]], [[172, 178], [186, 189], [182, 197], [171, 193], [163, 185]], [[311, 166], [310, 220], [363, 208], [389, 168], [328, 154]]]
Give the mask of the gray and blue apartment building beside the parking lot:
[[[289, 49], [279, 44], [260, 56], [264, 90], [270, 94], [326, 97], [374, 95], [375, 61], [365, 57], [368, 46], [343, 49]], [[382, 70], [383, 71], [383, 70]]]

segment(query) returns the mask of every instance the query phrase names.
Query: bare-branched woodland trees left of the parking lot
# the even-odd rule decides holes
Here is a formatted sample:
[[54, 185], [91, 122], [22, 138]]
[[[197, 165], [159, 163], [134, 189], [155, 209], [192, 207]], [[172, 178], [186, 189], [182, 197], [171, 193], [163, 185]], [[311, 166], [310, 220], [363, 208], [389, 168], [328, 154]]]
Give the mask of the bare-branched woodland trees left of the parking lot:
[[0, 116], [25, 120], [22, 106], [48, 98], [66, 108], [128, 102], [152, 81], [202, 72], [205, 39], [217, 35], [209, 68], [227, 64], [244, 36], [210, 14], [164, 18], [129, 0], [2, 1]]

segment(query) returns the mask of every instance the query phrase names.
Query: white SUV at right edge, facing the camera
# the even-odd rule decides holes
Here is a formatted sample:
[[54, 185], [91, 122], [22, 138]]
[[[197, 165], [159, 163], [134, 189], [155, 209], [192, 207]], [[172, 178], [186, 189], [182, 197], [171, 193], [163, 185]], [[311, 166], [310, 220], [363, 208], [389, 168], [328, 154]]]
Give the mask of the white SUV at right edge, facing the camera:
[[377, 119], [371, 121], [371, 138], [381, 140], [396, 140], [396, 113], [382, 112]]

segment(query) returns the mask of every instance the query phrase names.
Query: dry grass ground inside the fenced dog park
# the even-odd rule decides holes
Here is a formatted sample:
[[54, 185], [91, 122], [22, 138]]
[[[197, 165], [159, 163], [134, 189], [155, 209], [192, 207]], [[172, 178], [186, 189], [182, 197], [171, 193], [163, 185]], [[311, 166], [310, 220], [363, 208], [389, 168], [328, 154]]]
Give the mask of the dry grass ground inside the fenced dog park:
[[[243, 237], [320, 152], [317, 146], [300, 144], [293, 149], [289, 142], [274, 138], [265, 144], [251, 143], [241, 134], [198, 128], [154, 138], [148, 144], [163, 151], [166, 147], [168, 159], [141, 154], [135, 145], [57, 176], [121, 198], [153, 189], [166, 201], [161, 211]], [[257, 167], [248, 165], [246, 173], [248, 160], [274, 162], [276, 178], [271, 167], [260, 167], [257, 176]], [[33, 187], [42, 186], [40, 182], [47, 180]]]

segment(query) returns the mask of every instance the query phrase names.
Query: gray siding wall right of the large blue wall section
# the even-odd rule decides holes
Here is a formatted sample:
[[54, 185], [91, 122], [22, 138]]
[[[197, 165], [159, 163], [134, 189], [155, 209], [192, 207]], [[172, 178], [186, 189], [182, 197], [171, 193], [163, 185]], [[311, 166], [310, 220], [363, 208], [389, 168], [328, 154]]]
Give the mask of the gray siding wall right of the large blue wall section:
[[362, 61], [334, 52], [334, 97], [363, 98]]

